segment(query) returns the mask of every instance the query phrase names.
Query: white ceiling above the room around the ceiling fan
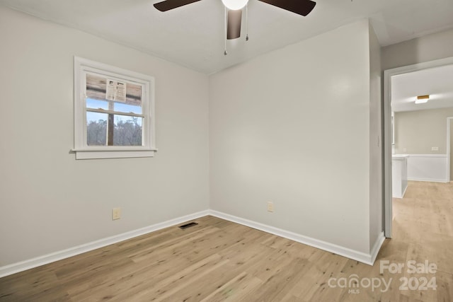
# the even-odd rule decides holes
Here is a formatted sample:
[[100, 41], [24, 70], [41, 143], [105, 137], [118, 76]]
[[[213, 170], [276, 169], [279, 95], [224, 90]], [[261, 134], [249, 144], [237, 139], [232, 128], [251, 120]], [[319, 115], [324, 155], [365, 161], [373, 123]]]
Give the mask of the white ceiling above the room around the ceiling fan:
[[[0, 0], [33, 16], [142, 50], [205, 74], [370, 18], [382, 46], [453, 28], [452, 0], [318, 0], [302, 17], [250, 0], [248, 35], [229, 40], [224, 56], [224, 6], [202, 0], [160, 12], [161, 0]], [[294, 0], [297, 1], [297, 0]]]

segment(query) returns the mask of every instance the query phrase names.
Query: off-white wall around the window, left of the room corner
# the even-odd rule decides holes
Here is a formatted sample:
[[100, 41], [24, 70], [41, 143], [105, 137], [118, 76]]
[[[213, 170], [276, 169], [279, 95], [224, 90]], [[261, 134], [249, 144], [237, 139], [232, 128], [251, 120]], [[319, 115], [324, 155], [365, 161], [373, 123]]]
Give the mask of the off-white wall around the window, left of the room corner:
[[[207, 76], [3, 6], [0, 38], [0, 266], [208, 209]], [[155, 77], [154, 158], [69, 153], [74, 55]]]

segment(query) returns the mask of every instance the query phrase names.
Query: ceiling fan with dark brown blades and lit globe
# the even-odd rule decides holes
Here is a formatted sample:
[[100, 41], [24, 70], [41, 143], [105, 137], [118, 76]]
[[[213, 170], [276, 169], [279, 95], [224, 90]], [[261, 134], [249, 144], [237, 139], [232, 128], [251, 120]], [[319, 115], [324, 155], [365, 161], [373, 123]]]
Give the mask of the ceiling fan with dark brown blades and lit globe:
[[[169, 11], [200, 0], [165, 0], [154, 4], [159, 11]], [[259, 0], [273, 6], [292, 11], [301, 16], [308, 15], [316, 5], [311, 0]], [[247, 5], [248, 0], [222, 0], [228, 8], [228, 21], [226, 25], [226, 39], [236, 39], [241, 36], [242, 8]]]

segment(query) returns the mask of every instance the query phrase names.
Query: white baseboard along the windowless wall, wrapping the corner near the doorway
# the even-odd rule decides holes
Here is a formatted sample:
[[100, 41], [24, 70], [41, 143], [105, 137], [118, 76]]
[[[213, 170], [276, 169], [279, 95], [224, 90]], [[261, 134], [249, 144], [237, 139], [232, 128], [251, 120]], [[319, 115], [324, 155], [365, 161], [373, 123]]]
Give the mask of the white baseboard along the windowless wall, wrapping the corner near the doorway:
[[265, 231], [267, 233], [271, 233], [271, 234], [274, 234], [274, 235], [277, 235], [277, 236], [280, 236], [280, 237], [283, 237], [283, 238], [294, 240], [294, 241], [297, 241], [298, 243], [303, 243], [303, 244], [306, 244], [306, 245], [310, 245], [310, 246], [313, 246], [314, 248], [319, 248], [321, 250], [326, 250], [328, 252], [333, 252], [333, 253], [335, 253], [337, 255], [341, 255], [341, 256], [350, 258], [352, 260], [357, 260], [357, 261], [365, 263], [367, 265], [373, 265], [374, 264], [374, 260], [376, 260], [377, 253], [379, 252], [379, 249], [381, 248], [381, 245], [382, 245], [382, 243], [384, 242], [384, 239], [385, 239], [384, 238], [384, 232], [382, 232], [379, 235], [379, 238], [376, 241], [376, 243], [374, 243], [372, 252], [367, 254], [365, 252], [359, 252], [357, 250], [351, 250], [350, 248], [345, 248], [345, 247], [340, 246], [340, 245], [336, 245], [336, 244], [333, 244], [333, 243], [328, 243], [328, 242], [323, 241], [323, 240], [318, 240], [318, 239], [311, 238], [311, 237], [308, 237], [308, 236], [303, 236], [303, 235], [300, 235], [300, 234], [297, 234], [297, 233], [293, 233], [293, 232], [290, 232], [290, 231], [285, 231], [285, 230], [282, 230], [281, 228], [275, 228], [273, 226], [267, 226], [267, 225], [265, 225], [263, 223], [258, 223], [258, 222], [251, 221], [251, 220], [248, 220], [248, 219], [243, 219], [243, 218], [240, 218], [240, 217], [237, 217], [237, 216], [233, 216], [233, 215], [229, 215], [229, 214], [225, 214], [225, 213], [222, 213], [222, 212], [219, 212], [219, 211], [210, 210], [209, 212], [210, 212], [210, 215], [212, 215], [212, 216], [216, 216], [216, 217], [219, 217], [221, 219], [225, 219], [225, 220], [228, 220], [228, 221], [239, 223], [239, 224], [242, 224], [244, 226], [249, 226], [251, 228], [256, 228], [257, 230]]

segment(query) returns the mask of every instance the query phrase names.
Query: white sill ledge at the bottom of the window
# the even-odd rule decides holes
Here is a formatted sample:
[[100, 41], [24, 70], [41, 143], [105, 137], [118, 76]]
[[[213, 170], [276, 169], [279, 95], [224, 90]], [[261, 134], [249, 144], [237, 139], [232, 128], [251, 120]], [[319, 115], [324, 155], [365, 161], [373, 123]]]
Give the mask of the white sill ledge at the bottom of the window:
[[71, 149], [76, 159], [153, 157], [157, 149]]

